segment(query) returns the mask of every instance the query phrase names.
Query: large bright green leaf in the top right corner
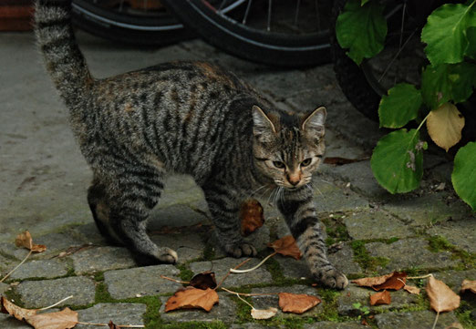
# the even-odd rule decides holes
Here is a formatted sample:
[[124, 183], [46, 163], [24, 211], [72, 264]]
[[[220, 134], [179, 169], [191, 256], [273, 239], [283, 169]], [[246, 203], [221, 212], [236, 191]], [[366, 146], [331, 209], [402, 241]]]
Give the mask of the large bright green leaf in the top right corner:
[[466, 29], [476, 26], [476, 12], [471, 5], [441, 5], [428, 16], [421, 31], [421, 41], [428, 46], [425, 53], [432, 65], [460, 63], [468, 47]]

